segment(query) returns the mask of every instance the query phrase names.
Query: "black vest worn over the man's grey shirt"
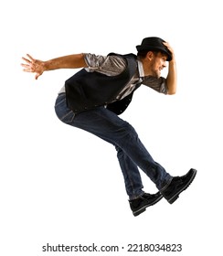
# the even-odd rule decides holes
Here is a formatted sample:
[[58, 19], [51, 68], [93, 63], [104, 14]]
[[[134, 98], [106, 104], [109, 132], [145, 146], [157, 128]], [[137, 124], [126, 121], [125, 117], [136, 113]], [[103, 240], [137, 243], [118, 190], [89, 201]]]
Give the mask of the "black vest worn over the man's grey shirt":
[[[67, 104], [73, 112], [83, 112], [102, 105], [107, 105], [107, 108], [116, 114], [124, 112], [132, 101], [133, 92], [121, 101], [116, 101], [116, 97], [133, 78], [137, 61], [133, 54], [118, 56], [127, 62], [126, 69], [120, 75], [106, 76], [96, 71], [88, 72], [81, 69], [65, 81]], [[139, 86], [136, 86], [135, 90]]]

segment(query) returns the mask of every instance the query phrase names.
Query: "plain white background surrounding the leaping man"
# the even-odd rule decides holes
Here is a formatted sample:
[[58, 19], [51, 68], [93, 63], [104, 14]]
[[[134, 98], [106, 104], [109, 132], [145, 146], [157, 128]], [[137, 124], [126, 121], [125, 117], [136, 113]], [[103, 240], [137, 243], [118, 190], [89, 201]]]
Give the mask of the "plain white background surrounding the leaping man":
[[[183, 245], [181, 252], [157, 255], [220, 255], [220, 6], [217, 0], [1, 2], [1, 255], [56, 255], [42, 246], [93, 242], [125, 247], [101, 255], [129, 255], [129, 243]], [[165, 96], [142, 86], [122, 118], [168, 172], [181, 176], [194, 167], [197, 176], [175, 204], [163, 199], [134, 218], [112, 145], [55, 115], [57, 93], [76, 70], [35, 80], [20, 63], [27, 53], [43, 60], [135, 53], [143, 37], [153, 36], [175, 48], [178, 91]], [[145, 176], [143, 184], [156, 191]]]

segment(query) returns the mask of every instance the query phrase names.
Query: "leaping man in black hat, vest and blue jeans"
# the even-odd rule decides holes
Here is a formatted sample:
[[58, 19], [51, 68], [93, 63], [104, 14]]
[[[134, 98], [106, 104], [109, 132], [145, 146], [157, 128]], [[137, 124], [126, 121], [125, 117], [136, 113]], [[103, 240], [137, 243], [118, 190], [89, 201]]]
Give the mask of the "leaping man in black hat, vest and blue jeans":
[[[108, 56], [75, 54], [41, 61], [30, 55], [23, 58], [24, 71], [36, 73], [53, 69], [80, 69], [59, 91], [55, 104], [58, 118], [69, 125], [97, 135], [113, 144], [124, 177], [130, 208], [134, 216], [157, 203], [162, 197], [174, 203], [179, 194], [196, 176], [190, 169], [185, 176], [171, 176], [162, 165], [154, 162], [131, 124], [121, 114], [132, 101], [133, 92], [142, 84], [165, 94], [175, 94], [176, 67], [173, 48], [159, 37], [143, 38], [133, 54]], [[166, 79], [161, 70], [169, 61]], [[139, 169], [150, 177], [158, 188], [154, 195], [143, 191]]]

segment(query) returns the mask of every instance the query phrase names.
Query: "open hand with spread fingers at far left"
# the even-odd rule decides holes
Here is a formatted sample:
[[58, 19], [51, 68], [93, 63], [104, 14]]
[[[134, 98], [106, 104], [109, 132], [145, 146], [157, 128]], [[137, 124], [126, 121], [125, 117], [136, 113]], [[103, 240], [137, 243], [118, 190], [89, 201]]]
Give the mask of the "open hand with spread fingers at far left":
[[25, 72], [36, 73], [35, 79], [42, 75], [45, 71], [44, 61], [33, 59], [29, 54], [27, 54], [27, 58], [22, 58], [26, 63], [22, 63], [21, 66], [24, 68]]

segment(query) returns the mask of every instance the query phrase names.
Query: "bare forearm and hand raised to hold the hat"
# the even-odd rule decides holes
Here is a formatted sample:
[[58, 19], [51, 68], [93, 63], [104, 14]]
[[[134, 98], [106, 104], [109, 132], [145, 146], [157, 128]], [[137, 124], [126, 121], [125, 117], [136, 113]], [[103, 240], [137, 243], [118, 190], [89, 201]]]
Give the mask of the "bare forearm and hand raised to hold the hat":
[[168, 75], [166, 77], [166, 85], [168, 88], [168, 94], [175, 94], [176, 87], [177, 87], [177, 72], [176, 72], [176, 63], [175, 63], [175, 53], [174, 53], [173, 48], [171, 48], [168, 43], [164, 43], [164, 45], [172, 53], [172, 60], [169, 61], [169, 70], [168, 70]]

